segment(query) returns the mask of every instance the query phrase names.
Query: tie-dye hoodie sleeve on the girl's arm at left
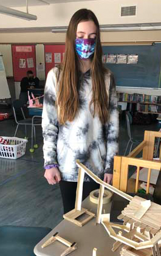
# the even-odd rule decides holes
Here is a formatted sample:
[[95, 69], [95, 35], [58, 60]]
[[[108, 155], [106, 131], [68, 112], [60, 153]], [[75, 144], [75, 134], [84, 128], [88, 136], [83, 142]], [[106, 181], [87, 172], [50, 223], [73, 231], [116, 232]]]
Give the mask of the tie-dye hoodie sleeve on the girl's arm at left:
[[58, 116], [55, 106], [57, 78], [54, 71], [55, 69], [49, 71], [44, 91], [42, 128], [45, 168], [57, 165]]

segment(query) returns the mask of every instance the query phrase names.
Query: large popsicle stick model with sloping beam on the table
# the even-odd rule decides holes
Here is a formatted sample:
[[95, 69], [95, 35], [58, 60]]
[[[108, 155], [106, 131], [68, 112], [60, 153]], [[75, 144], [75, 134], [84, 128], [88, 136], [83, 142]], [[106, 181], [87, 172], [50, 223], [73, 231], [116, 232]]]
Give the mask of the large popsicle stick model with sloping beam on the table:
[[[161, 206], [149, 200], [140, 198], [139, 196], [132, 197], [125, 192], [112, 187], [112, 185], [101, 181], [101, 179], [95, 176], [92, 171], [81, 164], [80, 161], [77, 161], [77, 165], [79, 167], [79, 175], [75, 209], [66, 213], [64, 218], [78, 226], [83, 226], [83, 224], [87, 223], [94, 217], [94, 213], [91, 213], [87, 209], [83, 209], [81, 207], [84, 174], [86, 173], [86, 175], [91, 177], [91, 179], [100, 184], [96, 223], [103, 224], [104, 229], [106, 229], [109, 236], [116, 240], [112, 251], [116, 251], [121, 244], [126, 244], [135, 250], [151, 248], [154, 256], [156, 256], [156, 254], [157, 256], [160, 256], [159, 242], [161, 240]], [[128, 206], [122, 211], [122, 215], [118, 216], [118, 218], [123, 219], [123, 225], [110, 223], [110, 215], [102, 214], [104, 188], [117, 193], [129, 201]], [[151, 214], [149, 214], [149, 212]], [[91, 218], [89, 216], [83, 222], [78, 223], [78, 220], [75, 219], [83, 213], [88, 213], [91, 215]], [[119, 229], [118, 234], [115, 232], [113, 227], [115, 229]], [[156, 230], [156, 232], [154, 230]], [[93, 255], [95, 256], [96, 254], [97, 250], [94, 250]]]

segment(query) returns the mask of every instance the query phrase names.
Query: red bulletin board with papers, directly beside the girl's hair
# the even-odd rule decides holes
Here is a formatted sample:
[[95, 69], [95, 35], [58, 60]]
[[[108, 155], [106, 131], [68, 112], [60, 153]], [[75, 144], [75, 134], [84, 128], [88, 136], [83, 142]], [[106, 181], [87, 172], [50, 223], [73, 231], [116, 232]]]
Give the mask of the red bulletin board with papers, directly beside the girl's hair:
[[47, 77], [47, 73], [50, 71], [50, 69], [52, 69], [52, 67], [57, 66], [63, 61], [65, 44], [45, 44], [44, 52]]

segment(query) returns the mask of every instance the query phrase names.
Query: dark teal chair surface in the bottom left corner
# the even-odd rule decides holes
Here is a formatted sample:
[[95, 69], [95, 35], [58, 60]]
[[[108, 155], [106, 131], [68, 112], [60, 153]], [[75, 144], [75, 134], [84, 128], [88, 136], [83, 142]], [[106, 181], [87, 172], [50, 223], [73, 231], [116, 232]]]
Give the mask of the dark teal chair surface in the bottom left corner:
[[35, 256], [33, 249], [52, 229], [49, 227], [0, 227], [1, 256]]

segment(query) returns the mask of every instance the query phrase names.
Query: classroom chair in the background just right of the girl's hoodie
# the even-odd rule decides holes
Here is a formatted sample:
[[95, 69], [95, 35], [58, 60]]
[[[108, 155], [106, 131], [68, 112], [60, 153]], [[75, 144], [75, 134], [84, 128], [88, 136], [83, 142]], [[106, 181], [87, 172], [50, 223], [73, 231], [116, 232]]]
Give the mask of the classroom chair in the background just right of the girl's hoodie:
[[[129, 137], [129, 140], [128, 140], [128, 144], [126, 145], [126, 149], [125, 149], [125, 153], [124, 153], [124, 156], [126, 156], [126, 153], [128, 151], [128, 147], [129, 147], [129, 153], [131, 152], [132, 150], [132, 146], [133, 145], [137, 145], [141, 142], [141, 140], [134, 140], [132, 138], [132, 135], [131, 135], [131, 123], [132, 123], [132, 116], [130, 114], [129, 111], [126, 111], [126, 124], [127, 124], [127, 130], [128, 130], [128, 137]], [[131, 145], [130, 145], [131, 144]]]

